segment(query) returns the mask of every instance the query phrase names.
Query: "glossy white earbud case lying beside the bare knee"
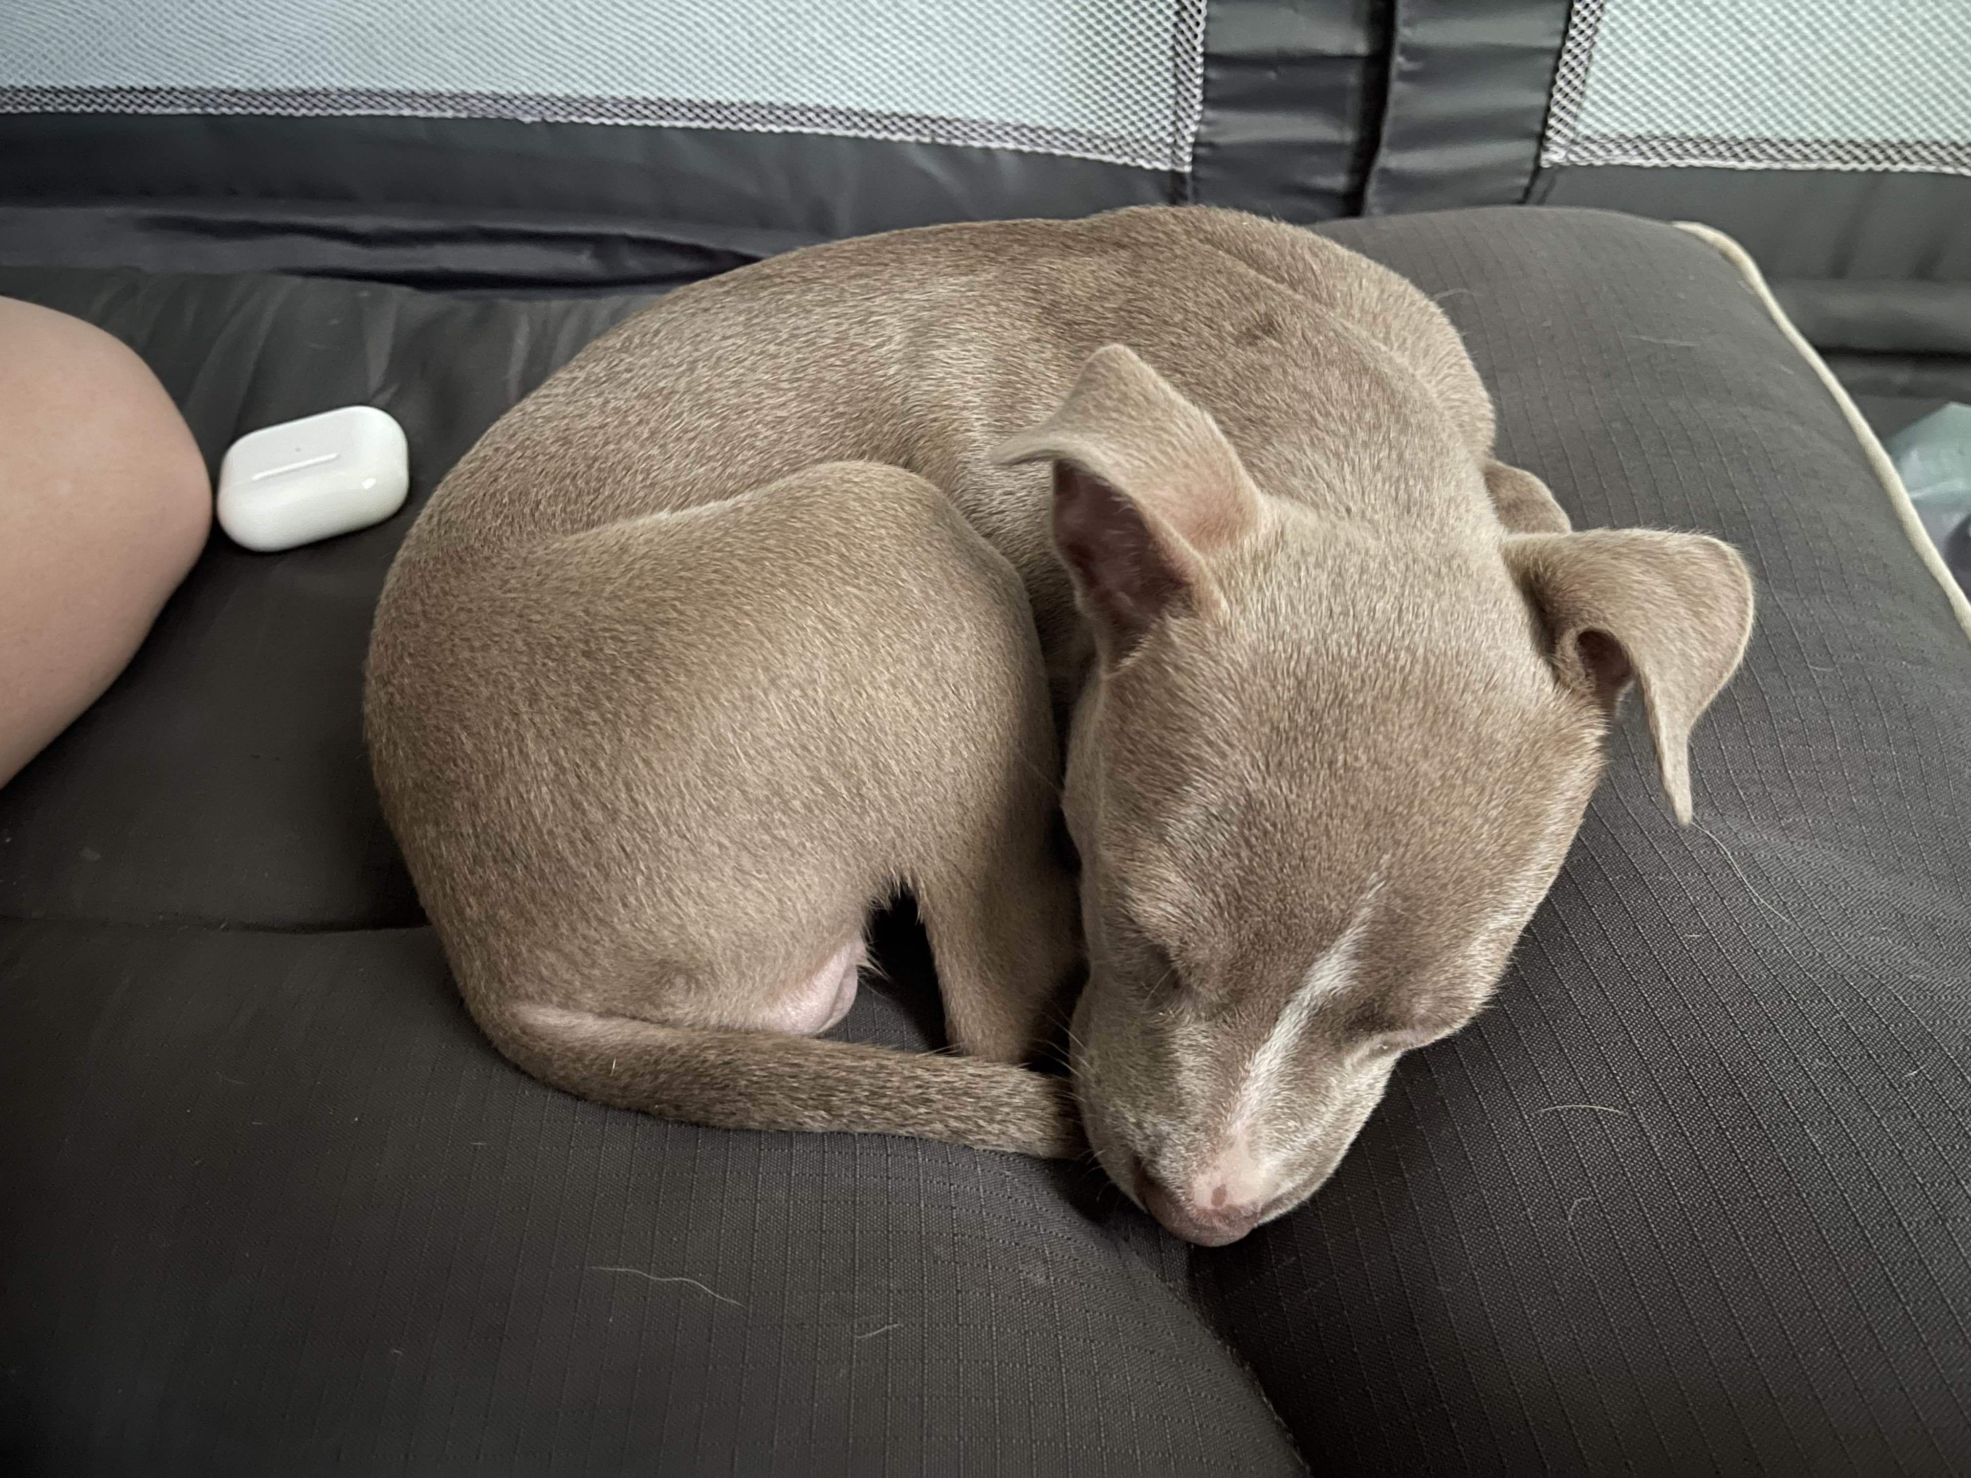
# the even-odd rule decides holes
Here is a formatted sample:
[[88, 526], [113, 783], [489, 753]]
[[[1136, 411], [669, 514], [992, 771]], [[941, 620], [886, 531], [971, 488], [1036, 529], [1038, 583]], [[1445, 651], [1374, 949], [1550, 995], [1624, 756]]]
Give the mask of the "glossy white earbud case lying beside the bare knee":
[[219, 526], [248, 550], [292, 550], [388, 518], [408, 491], [404, 428], [343, 406], [235, 441], [219, 463]]

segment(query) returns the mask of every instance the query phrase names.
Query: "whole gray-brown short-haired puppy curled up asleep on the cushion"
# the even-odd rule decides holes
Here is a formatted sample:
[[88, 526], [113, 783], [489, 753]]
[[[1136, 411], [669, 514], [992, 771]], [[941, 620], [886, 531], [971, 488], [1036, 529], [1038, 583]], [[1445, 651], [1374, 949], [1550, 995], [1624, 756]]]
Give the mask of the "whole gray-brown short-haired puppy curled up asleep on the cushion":
[[[1689, 818], [1746, 642], [1729, 546], [1569, 532], [1490, 453], [1423, 294], [1228, 211], [672, 294], [487, 432], [378, 609], [376, 776], [473, 1015], [607, 1104], [1070, 1153], [1015, 1066], [1078, 952], [1058, 719], [1088, 1143], [1244, 1236], [1486, 1001], [1630, 684]], [[897, 889], [970, 1056], [812, 1039]]]

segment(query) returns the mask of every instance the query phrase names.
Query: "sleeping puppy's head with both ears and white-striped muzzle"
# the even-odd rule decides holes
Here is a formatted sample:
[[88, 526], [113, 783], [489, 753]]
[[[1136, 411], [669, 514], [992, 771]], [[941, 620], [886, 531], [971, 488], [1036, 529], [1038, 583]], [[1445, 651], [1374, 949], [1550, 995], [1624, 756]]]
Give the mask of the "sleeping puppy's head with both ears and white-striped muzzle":
[[[1173, 1232], [1234, 1242], [1326, 1180], [1405, 1050], [1484, 1005], [1630, 684], [1689, 820], [1685, 741], [1750, 581], [1691, 534], [1512, 536], [1484, 503], [1405, 532], [1267, 497], [1121, 347], [1001, 459], [1053, 463], [1098, 648], [1062, 796], [1088, 1137]], [[1447, 506], [1484, 499], [1468, 453], [1439, 475]]]

